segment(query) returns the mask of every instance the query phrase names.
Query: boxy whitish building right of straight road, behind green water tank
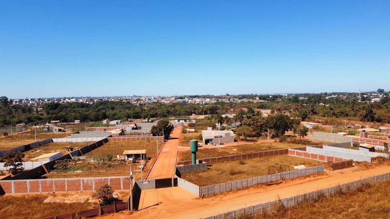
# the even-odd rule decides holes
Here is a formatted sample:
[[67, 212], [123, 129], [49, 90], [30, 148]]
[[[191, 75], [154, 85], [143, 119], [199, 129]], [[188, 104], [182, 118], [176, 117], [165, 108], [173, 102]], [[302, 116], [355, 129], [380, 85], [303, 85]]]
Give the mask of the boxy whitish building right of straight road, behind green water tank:
[[232, 143], [234, 142], [233, 131], [213, 131], [211, 127], [207, 130], [202, 131], [203, 143], [207, 144], [218, 144], [218, 143]]

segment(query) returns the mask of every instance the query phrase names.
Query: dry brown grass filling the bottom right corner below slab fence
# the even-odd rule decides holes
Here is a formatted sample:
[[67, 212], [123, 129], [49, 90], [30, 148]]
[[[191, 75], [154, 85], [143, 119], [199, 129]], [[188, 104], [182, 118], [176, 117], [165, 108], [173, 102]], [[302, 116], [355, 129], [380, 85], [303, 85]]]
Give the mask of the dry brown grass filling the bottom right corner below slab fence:
[[[278, 212], [255, 219], [367, 219], [389, 218], [390, 182], [372, 184], [345, 194], [323, 198], [291, 208], [279, 208]], [[245, 218], [245, 217], [243, 217]]]

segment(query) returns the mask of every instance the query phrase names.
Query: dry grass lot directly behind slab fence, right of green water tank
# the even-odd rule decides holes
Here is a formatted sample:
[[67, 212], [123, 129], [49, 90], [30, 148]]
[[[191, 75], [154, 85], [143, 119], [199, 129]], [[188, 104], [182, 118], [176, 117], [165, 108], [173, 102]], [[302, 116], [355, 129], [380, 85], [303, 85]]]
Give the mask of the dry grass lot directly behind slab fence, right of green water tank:
[[298, 165], [310, 167], [322, 164], [325, 163], [300, 157], [281, 155], [213, 164], [208, 166], [206, 171], [186, 173], [181, 178], [193, 184], [205, 186], [295, 170], [293, 166]]

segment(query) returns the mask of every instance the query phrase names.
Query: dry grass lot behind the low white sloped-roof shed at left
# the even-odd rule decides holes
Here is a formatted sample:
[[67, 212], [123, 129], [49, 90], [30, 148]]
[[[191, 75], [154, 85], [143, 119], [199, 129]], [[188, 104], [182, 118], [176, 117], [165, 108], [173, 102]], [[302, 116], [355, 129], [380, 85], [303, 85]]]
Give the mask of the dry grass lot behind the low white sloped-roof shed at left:
[[89, 144], [92, 144], [93, 141], [86, 141], [86, 142], [52, 142], [50, 144], [41, 145], [38, 147], [34, 147], [31, 150], [28, 150], [24, 152], [25, 157], [24, 160], [28, 161], [34, 157], [38, 157], [42, 154], [48, 154], [52, 152], [61, 152], [62, 155], [65, 155], [69, 153], [67, 150], [64, 149], [66, 146], [73, 146], [73, 150], [76, 148], [82, 148], [84, 146], [87, 146]]

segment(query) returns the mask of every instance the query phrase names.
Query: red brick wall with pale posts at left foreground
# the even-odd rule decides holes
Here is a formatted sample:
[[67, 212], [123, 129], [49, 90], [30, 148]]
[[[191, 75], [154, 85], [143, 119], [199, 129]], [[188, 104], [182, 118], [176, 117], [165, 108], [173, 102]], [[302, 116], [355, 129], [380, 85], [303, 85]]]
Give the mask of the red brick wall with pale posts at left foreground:
[[129, 190], [128, 177], [66, 178], [41, 180], [2, 180], [0, 194], [67, 193], [94, 191], [109, 184], [116, 191]]

